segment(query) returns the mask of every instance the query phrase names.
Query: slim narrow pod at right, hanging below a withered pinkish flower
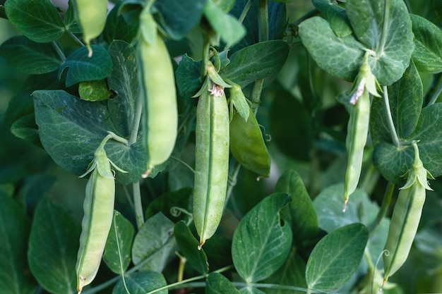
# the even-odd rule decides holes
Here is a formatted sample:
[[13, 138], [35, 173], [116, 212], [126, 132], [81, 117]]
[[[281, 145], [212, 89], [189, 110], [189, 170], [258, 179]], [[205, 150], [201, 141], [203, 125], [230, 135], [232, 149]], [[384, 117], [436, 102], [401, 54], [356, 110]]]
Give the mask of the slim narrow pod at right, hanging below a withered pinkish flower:
[[[359, 90], [359, 89], [358, 89]], [[348, 152], [347, 171], [345, 173], [344, 205], [347, 206], [348, 198], [356, 190], [361, 175], [364, 147], [369, 133], [370, 121], [370, 96], [362, 88], [362, 93], [350, 106], [350, 121], [347, 127], [347, 140], [345, 145]], [[344, 208], [345, 210], [345, 208]]]

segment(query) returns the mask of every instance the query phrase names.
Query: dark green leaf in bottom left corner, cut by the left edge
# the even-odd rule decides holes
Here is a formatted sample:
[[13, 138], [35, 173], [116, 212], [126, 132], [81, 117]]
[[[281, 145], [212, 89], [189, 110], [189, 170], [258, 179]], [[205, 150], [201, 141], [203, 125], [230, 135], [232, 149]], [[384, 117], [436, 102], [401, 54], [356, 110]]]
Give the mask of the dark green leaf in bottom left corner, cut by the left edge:
[[24, 210], [0, 191], [0, 294], [31, 294], [37, 290], [26, 259], [29, 231], [30, 221]]

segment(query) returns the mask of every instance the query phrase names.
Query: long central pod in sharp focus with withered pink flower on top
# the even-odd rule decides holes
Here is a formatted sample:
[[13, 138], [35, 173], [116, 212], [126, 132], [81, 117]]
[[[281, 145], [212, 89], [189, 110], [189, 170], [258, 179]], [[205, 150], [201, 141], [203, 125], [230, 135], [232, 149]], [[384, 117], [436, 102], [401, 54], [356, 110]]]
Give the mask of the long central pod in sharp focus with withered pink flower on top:
[[[218, 87], [218, 89], [215, 89]], [[221, 93], [213, 85], [211, 93]], [[221, 221], [229, 174], [229, 111], [224, 92], [201, 94], [196, 108], [195, 186], [193, 221], [200, 236], [198, 249]]]

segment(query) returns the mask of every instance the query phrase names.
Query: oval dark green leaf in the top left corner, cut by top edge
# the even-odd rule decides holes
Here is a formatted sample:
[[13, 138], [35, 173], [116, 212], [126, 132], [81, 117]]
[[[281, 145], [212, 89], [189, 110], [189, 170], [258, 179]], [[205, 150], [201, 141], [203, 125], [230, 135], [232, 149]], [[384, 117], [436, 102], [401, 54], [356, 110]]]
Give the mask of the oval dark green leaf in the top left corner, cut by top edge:
[[60, 13], [49, 0], [8, 0], [5, 8], [11, 23], [32, 41], [48, 43], [64, 34]]

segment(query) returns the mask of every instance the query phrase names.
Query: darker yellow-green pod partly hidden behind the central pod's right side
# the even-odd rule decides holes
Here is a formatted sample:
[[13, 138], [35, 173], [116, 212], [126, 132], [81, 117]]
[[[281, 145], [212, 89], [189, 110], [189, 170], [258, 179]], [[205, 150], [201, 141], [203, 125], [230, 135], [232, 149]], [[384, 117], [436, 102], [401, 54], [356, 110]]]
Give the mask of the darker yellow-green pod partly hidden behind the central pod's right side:
[[230, 122], [230, 152], [249, 171], [264, 177], [270, 176], [270, 156], [250, 107], [247, 121], [239, 113], [233, 115]]

